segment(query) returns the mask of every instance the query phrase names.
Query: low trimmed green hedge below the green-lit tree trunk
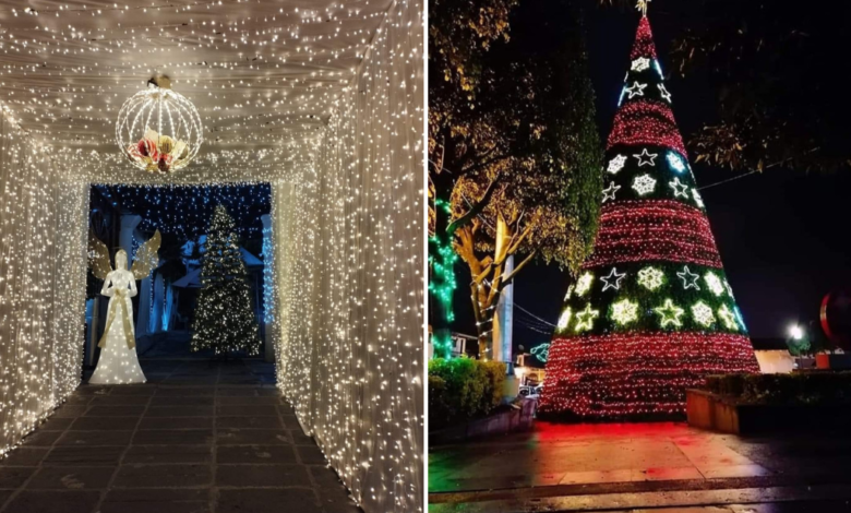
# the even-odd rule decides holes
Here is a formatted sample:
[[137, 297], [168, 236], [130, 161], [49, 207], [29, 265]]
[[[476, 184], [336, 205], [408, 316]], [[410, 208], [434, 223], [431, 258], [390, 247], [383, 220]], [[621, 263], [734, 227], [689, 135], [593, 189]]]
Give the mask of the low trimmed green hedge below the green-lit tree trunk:
[[483, 417], [500, 405], [505, 365], [470, 358], [429, 361], [429, 427]]

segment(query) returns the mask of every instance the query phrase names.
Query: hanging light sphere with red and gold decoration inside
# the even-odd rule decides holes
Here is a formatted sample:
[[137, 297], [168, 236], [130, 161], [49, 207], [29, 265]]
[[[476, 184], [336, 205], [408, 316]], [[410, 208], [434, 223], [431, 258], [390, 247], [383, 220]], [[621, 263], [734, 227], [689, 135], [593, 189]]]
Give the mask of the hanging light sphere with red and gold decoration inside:
[[159, 75], [121, 106], [116, 142], [137, 168], [169, 174], [197, 155], [204, 130], [192, 102], [171, 91], [169, 79]]

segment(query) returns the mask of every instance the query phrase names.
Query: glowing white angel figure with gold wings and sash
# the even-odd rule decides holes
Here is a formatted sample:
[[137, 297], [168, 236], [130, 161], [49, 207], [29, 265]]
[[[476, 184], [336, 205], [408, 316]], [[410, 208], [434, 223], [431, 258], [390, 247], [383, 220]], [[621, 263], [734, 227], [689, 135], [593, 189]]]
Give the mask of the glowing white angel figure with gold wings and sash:
[[159, 243], [160, 236], [157, 230], [139, 248], [130, 271], [127, 269], [127, 252], [118, 250], [116, 269], [112, 270], [106, 244], [94, 235], [89, 236], [92, 271], [98, 279], [104, 281], [100, 294], [110, 298], [104, 336], [97, 345], [100, 348], [100, 359], [95, 373], [88, 380], [89, 383], [121, 384], [146, 381], [136, 355], [133, 303], [130, 298], [136, 295], [136, 279], [146, 278], [159, 262]]

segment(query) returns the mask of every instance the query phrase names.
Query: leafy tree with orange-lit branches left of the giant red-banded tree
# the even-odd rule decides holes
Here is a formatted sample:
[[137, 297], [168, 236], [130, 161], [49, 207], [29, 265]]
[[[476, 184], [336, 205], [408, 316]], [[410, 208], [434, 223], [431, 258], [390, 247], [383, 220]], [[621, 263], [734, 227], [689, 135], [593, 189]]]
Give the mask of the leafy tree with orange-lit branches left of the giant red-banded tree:
[[[470, 270], [488, 357], [495, 306], [517, 273], [536, 258], [576, 270], [590, 249], [602, 187], [594, 92], [578, 16], [550, 29], [553, 47], [525, 49], [507, 43], [516, 2], [433, 3], [430, 178], [452, 215], [441, 223], [435, 211], [450, 229], [434, 234]], [[504, 274], [514, 254], [524, 260]]]

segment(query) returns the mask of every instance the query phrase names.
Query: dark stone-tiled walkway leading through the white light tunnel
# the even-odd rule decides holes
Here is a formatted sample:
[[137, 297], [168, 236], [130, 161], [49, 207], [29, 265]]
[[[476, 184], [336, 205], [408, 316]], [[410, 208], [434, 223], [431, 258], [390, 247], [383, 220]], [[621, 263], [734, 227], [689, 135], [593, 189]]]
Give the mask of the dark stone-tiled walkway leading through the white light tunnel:
[[357, 513], [259, 360], [81, 385], [0, 462], [0, 513]]

